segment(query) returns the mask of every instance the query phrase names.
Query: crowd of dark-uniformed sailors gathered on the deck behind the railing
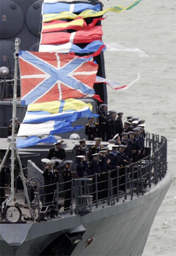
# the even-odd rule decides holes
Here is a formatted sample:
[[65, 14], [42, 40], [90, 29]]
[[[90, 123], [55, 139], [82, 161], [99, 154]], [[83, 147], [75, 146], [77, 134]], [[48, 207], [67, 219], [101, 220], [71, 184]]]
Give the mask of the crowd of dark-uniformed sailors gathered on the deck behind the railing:
[[[99, 108], [99, 123], [94, 122], [94, 117], [89, 117], [85, 127], [88, 140], [95, 144], [87, 148], [86, 139], [80, 139], [76, 148], [75, 169], [77, 178], [92, 176], [93, 201], [96, 199], [95, 175], [97, 173], [98, 199], [105, 199], [108, 195], [108, 171], [111, 171], [113, 187], [116, 187], [116, 169], [119, 167], [119, 190], [125, 190], [125, 166], [142, 159], [145, 154], [145, 120], [137, 117], [127, 117], [122, 122], [123, 113], [109, 111], [105, 115], [107, 105]], [[117, 115], [117, 118], [116, 118]], [[99, 137], [98, 137], [99, 136]], [[107, 146], [101, 145], [102, 140], [108, 140]], [[54, 143], [54, 148], [48, 152], [48, 158], [42, 159], [44, 166], [45, 203], [53, 200], [53, 191], [56, 189], [58, 175], [62, 172], [64, 181], [65, 201], [64, 210], [69, 210], [71, 205], [71, 169], [72, 160], [67, 160], [65, 150], [62, 148], [63, 140]], [[55, 184], [54, 184], [55, 183]], [[54, 184], [51, 186], [51, 184]]]

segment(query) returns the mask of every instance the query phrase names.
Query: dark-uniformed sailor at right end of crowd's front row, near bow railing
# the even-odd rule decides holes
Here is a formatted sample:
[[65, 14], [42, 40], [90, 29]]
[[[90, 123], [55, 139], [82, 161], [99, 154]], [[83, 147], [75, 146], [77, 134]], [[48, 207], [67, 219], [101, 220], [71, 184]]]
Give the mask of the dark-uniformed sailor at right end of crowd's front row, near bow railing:
[[136, 133], [134, 131], [129, 131], [128, 135], [130, 137], [130, 139], [128, 140], [128, 146], [131, 147], [132, 150], [133, 162], [137, 162], [139, 159], [139, 155], [141, 154], [139, 139], [135, 137]]

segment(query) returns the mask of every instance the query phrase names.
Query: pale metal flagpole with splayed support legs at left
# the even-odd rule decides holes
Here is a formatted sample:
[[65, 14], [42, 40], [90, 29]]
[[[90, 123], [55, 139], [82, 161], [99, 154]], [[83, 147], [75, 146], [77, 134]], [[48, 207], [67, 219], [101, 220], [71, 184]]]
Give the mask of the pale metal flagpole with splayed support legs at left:
[[[22, 176], [22, 182], [23, 182], [23, 187], [24, 187], [24, 191], [25, 191], [25, 196], [27, 199], [27, 204], [28, 204], [28, 208], [29, 208], [29, 212], [30, 215], [32, 216], [31, 213], [31, 205], [30, 205], [30, 201], [29, 201], [29, 197], [28, 197], [28, 192], [27, 192], [27, 188], [26, 188], [26, 182], [24, 179], [24, 174], [23, 174], [23, 169], [22, 169], [22, 165], [21, 165], [21, 160], [19, 157], [19, 154], [17, 152], [17, 146], [16, 146], [16, 138], [15, 138], [15, 121], [16, 121], [16, 114], [17, 114], [17, 64], [18, 64], [18, 58], [19, 58], [19, 47], [20, 47], [20, 39], [16, 38], [15, 39], [15, 52], [14, 52], [14, 59], [15, 59], [15, 63], [14, 63], [14, 95], [13, 95], [13, 110], [12, 110], [12, 132], [11, 132], [11, 147], [8, 148], [7, 151], [9, 151], [9, 149], [11, 148], [11, 193], [10, 196], [3, 202], [2, 206], [3, 208], [9, 204], [9, 202], [11, 201], [11, 199], [14, 198], [14, 153], [16, 151], [17, 153], [17, 159], [20, 165], [20, 173]], [[1, 163], [0, 169], [2, 169], [4, 162], [6, 160], [7, 154], [5, 154], [5, 157], [3, 159], [3, 162]]]

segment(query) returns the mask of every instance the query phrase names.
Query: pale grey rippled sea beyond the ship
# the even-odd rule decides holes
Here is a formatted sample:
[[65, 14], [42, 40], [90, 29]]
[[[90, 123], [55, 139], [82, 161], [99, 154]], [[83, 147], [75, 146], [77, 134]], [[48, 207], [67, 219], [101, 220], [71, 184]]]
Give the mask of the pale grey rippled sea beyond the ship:
[[[102, 0], [104, 9], [130, 0]], [[105, 52], [106, 78], [129, 89], [108, 88], [108, 109], [146, 120], [146, 131], [168, 138], [168, 169], [172, 184], [153, 222], [143, 256], [176, 255], [176, 0], [142, 0], [121, 14], [108, 12], [102, 21], [103, 41], [137, 47], [149, 57], [132, 52]], [[105, 16], [104, 15], [104, 16]], [[136, 237], [137, 239], [137, 237]]]

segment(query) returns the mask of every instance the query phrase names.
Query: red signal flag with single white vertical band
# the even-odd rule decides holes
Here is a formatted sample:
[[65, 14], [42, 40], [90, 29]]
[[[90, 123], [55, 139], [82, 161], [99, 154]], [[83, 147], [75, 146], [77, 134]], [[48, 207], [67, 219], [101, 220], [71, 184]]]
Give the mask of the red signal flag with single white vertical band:
[[40, 45], [51, 44], [59, 45], [63, 43], [91, 43], [94, 40], [102, 39], [102, 26], [95, 26], [73, 33], [51, 32], [41, 34]]

